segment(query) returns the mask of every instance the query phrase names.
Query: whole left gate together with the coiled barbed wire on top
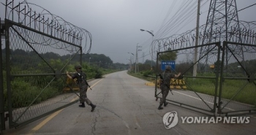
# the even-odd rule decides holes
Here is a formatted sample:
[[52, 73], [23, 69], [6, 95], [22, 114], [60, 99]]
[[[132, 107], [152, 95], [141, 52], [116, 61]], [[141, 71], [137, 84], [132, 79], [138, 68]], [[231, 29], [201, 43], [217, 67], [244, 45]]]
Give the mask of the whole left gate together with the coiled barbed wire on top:
[[1, 130], [6, 121], [9, 128], [23, 126], [77, 102], [78, 94], [65, 91], [72, 87], [66, 72], [75, 71], [75, 64], [82, 65], [82, 55], [91, 50], [89, 31], [47, 9], [26, 1], [7, 0], [3, 5]]

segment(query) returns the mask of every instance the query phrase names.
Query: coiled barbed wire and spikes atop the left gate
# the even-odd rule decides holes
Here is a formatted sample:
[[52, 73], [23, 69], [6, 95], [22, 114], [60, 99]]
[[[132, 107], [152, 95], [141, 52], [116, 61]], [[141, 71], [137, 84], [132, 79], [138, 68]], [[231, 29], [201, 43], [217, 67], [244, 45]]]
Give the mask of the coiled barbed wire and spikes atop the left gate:
[[[47, 9], [37, 4], [29, 3], [26, 0], [18, 4], [14, 4], [12, 1], [6, 1], [4, 6], [6, 8], [6, 19], [33, 28], [36, 31], [48, 34], [49, 36], [53, 36], [73, 45], [81, 46], [83, 49], [82, 53], [90, 53], [92, 36], [85, 28], [79, 28], [58, 15], [54, 15]], [[32, 10], [32, 7], [41, 9], [41, 11], [36, 12]], [[35, 40], [31, 38], [29, 31], [23, 31], [23, 34], [26, 34], [26, 39], [30, 44], [47, 45], [55, 47], [56, 49], [66, 49], [70, 53], [76, 53], [77, 51], [74, 50], [73, 47], [70, 47], [69, 44], [59, 45], [58, 42], [60, 42], [60, 40], [50, 38], [49, 36], [43, 36], [43, 39]]]

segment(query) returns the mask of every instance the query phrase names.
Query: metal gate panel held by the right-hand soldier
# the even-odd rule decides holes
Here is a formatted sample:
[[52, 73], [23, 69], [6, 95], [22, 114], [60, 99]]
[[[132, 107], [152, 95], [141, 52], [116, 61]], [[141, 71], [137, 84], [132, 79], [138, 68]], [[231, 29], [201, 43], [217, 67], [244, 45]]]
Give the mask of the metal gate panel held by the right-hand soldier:
[[[207, 61], [208, 63], [219, 63], [218, 60], [220, 57], [221, 46], [220, 42], [216, 42], [208, 45], [200, 45], [197, 47], [201, 50], [207, 51], [205, 51], [205, 53], [200, 58], [198, 58], [198, 61], [195, 63], [184, 61], [187, 57], [192, 57], [195, 55], [195, 47], [185, 47], [178, 50], [159, 52], [157, 53], [157, 62], [159, 59], [161, 59], [162, 54], [165, 53], [176, 53], [176, 61], [184, 61], [181, 63], [176, 62], [176, 68], [172, 69], [173, 74], [178, 74], [178, 72], [181, 72], [182, 78], [177, 78], [171, 81], [173, 88], [170, 89], [172, 90], [173, 94], [168, 94], [167, 101], [170, 101], [170, 103], [176, 104], [178, 106], [187, 107], [189, 109], [197, 109], [203, 112], [213, 113], [217, 107], [216, 102], [219, 83], [219, 71], [208, 71], [209, 69], [206, 67], [207, 63], [205, 62]], [[195, 64], [200, 67], [200, 72], [197, 73], [196, 77], [193, 77], [192, 71]], [[160, 72], [159, 69], [158, 71]], [[211, 73], [206, 74], [206, 72]], [[159, 80], [159, 78], [157, 78], [157, 80]], [[179, 83], [179, 80], [184, 81], [184, 84], [187, 86], [186, 89], [176, 87], [176, 85]], [[204, 82], [206, 82], [206, 84], [204, 84]], [[157, 96], [157, 98], [162, 98], [162, 94], [160, 93], [160, 90], [156, 87], [155, 96]]]

